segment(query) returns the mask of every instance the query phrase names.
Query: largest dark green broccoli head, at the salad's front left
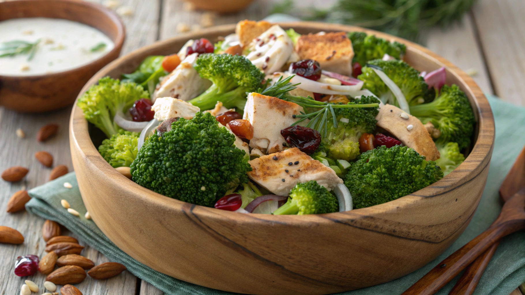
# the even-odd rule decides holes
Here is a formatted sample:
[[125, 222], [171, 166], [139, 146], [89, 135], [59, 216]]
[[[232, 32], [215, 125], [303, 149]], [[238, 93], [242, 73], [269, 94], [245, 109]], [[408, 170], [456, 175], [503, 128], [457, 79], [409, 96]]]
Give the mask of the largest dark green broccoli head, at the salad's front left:
[[210, 113], [172, 123], [172, 129], [144, 142], [131, 164], [133, 181], [184, 202], [208, 206], [251, 171], [245, 151], [234, 146], [235, 136], [219, 127]]

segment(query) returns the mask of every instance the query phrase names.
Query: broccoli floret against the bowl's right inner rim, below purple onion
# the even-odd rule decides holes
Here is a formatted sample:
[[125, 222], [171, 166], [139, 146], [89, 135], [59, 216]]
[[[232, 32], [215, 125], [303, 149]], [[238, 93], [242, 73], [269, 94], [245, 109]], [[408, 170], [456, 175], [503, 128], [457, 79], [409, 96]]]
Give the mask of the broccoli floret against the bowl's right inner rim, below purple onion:
[[457, 85], [444, 85], [441, 94], [430, 103], [410, 107], [410, 113], [423, 122], [432, 122], [441, 135], [436, 144], [458, 143], [459, 149], [470, 144], [476, 118], [465, 92]]

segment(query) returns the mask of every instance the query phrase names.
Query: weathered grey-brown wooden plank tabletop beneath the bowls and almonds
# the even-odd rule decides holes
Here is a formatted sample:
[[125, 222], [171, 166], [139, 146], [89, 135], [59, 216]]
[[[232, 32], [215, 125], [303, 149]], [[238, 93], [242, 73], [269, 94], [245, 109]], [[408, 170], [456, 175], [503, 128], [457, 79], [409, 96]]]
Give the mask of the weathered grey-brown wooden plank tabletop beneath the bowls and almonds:
[[[0, 0], [2, 1], [2, 0]], [[276, 1], [276, 0], [274, 0]], [[94, 0], [93, 2], [104, 2]], [[127, 26], [127, 40], [123, 54], [149, 45], [156, 40], [178, 34], [178, 24], [198, 29], [205, 25], [209, 13], [188, 9], [181, 0], [120, 0], [120, 6], [133, 10], [123, 16]], [[297, 0], [297, 5], [310, 6], [314, 0]], [[328, 7], [334, 0], [317, 1]], [[319, 6], [319, 4], [317, 4]], [[241, 19], [259, 20], [268, 15], [272, 0], [255, 0], [247, 9], [230, 15], [212, 15], [214, 25], [232, 24]], [[121, 8], [122, 9], [122, 8]], [[501, 99], [525, 106], [525, 1], [479, 0], [470, 13], [453, 27], [428, 31], [426, 46], [472, 73], [481, 89], [496, 94]], [[180, 26], [180, 25], [179, 25]], [[18, 294], [23, 278], [13, 273], [15, 259], [19, 255], [42, 256], [45, 242], [41, 238], [44, 223], [40, 217], [25, 211], [14, 214], [6, 212], [9, 197], [20, 189], [30, 189], [47, 181], [49, 168], [34, 158], [39, 150], [50, 152], [54, 165], [64, 164], [72, 170], [69, 152], [68, 121], [71, 107], [46, 114], [21, 114], [0, 108], [0, 171], [11, 166], [24, 166], [29, 173], [23, 181], [9, 183], [0, 180], [0, 225], [16, 228], [25, 237], [22, 245], [0, 244], [0, 294]], [[60, 126], [57, 136], [37, 143], [38, 129], [49, 123]], [[16, 129], [24, 130], [26, 137], [18, 138]], [[108, 259], [95, 249], [86, 247], [83, 255], [96, 264]], [[45, 277], [30, 278], [43, 286]], [[92, 280], [89, 277], [77, 285], [83, 294], [97, 295], [157, 295], [162, 292], [129, 272], [109, 280]], [[40, 292], [43, 293], [43, 292]], [[521, 294], [517, 289], [513, 295]]]

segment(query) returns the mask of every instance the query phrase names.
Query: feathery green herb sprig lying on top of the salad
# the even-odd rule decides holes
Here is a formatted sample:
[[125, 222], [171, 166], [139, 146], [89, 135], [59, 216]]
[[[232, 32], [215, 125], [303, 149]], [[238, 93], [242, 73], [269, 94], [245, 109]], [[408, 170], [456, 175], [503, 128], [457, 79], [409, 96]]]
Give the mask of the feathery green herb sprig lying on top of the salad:
[[292, 124], [292, 126], [297, 125], [306, 119], [310, 121], [306, 124], [306, 127], [316, 129], [321, 133], [321, 136], [327, 136], [328, 134], [328, 120], [333, 121], [334, 127], [337, 128], [337, 118], [335, 117], [334, 108], [340, 107], [377, 107], [379, 103], [370, 103], [370, 104], [333, 104], [328, 102], [320, 102], [312, 99], [311, 96], [296, 96], [291, 95], [289, 91], [296, 89], [298, 84], [292, 84], [290, 80], [295, 75], [290, 75], [286, 79], [282, 79], [282, 76], [279, 77], [274, 85], [266, 89], [261, 89], [257, 91], [262, 95], [274, 96], [279, 99], [287, 102], [296, 103], [302, 106], [304, 112], [301, 112], [300, 115], [293, 115], [294, 118], [300, 118], [298, 121]]

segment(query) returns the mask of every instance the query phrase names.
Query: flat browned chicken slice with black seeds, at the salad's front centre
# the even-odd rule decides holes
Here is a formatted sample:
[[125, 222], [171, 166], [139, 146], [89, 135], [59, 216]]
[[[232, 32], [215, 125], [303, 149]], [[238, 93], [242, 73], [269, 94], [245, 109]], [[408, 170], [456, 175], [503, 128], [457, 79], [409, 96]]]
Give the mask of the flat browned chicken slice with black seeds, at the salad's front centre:
[[333, 190], [343, 183], [330, 167], [312, 159], [298, 148], [290, 148], [250, 161], [248, 177], [261, 187], [277, 195], [289, 195], [297, 183], [315, 180]]

